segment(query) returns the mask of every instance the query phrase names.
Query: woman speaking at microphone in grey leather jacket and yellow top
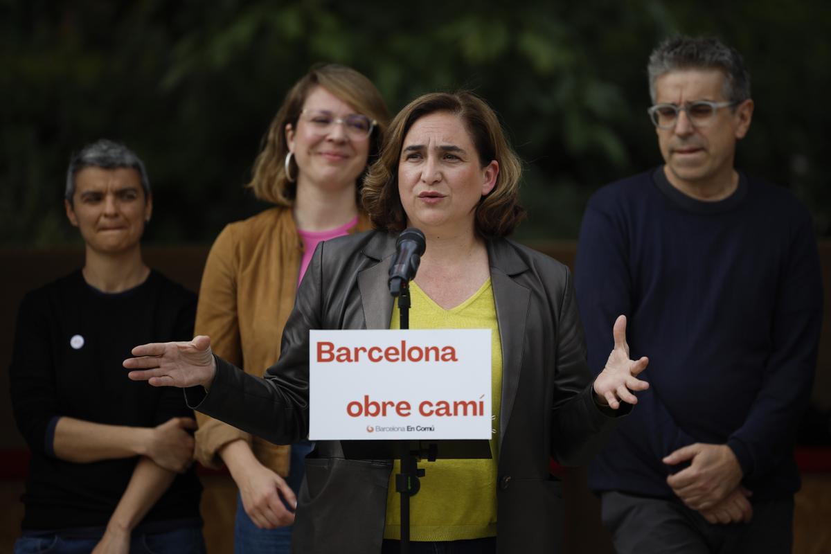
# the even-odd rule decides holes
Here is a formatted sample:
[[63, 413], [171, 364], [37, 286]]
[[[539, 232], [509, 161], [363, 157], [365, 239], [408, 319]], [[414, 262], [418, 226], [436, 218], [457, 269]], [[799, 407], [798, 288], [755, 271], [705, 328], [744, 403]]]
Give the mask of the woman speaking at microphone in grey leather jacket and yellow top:
[[[495, 433], [491, 459], [430, 465], [411, 501], [411, 552], [557, 552], [563, 501], [549, 457], [586, 463], [637, 402], [632, 391], [647, 388], [636, 377], [647, 360], [629, 360], [618, 318], [615, 349], [591, 380], [568, 268], [505, 238], [523, 214], [520, 173], [484, 101], [420, 96], [396, 115], [364, 183], [376, 231], [317, 248], [263, 379], [214, 356], [207, 336], [136, 347], [130, 378], [189, 387], [194, 408], [275, 443], [305, 436], [308, 330], [396, 328], [387, 272], [398, 234], [420, 228], [411, 328], [493, 331]], [[296, 552], [398, 552], [392, 476], [389, 461], [344, 459], [340, 443], [319, 441], [298, 499]]]

